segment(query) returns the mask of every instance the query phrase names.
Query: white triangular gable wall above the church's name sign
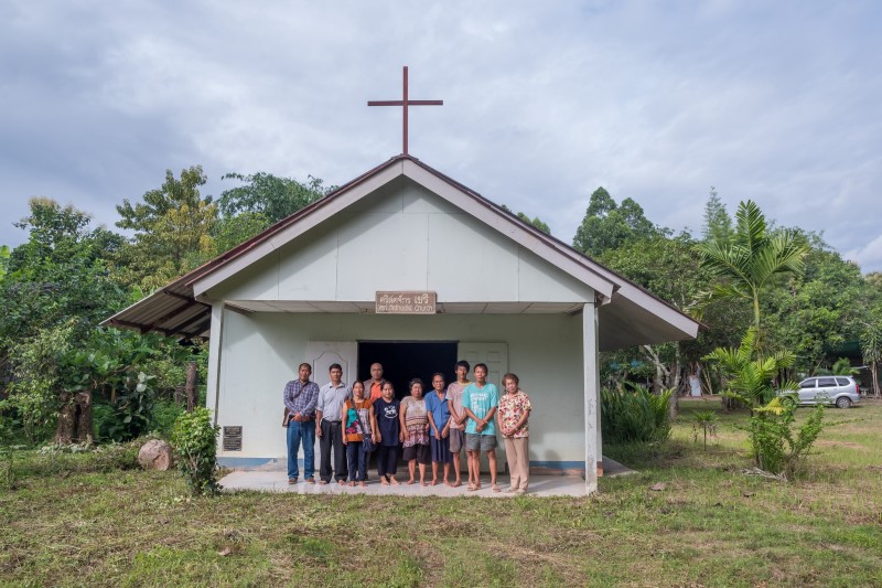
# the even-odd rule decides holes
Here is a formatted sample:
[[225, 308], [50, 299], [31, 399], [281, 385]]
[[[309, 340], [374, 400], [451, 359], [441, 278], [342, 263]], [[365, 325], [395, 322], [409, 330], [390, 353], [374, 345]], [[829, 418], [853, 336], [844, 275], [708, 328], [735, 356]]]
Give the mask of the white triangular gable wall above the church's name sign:
[[[480, 275], [480, 280], [470, 279]], [[212, 288], [213, 300], [580, 302], [591, 288], [409, 180], [383, 186]]]

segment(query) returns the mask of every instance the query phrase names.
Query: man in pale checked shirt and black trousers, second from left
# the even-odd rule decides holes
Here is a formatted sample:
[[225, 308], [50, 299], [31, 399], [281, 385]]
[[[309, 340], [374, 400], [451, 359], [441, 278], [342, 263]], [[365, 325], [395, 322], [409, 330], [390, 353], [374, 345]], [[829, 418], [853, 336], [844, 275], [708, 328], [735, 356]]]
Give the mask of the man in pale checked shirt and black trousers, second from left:
[[329, 370], [331, 382], [319, 391], [319, 402], [315, 405], [315, 420], [319, 426], [315, 434], [319, 436], [319, 450], [321, 460], [319, 467], [320, 484], [331, 481], [331, 450], [334, 451], [333, 475], [340, 485], [346, 483], [346, 452], [343, 450], [343, 402], [348, 396], [346, 385], [342, 382], [343, 367], [338, 363], [331, 364]]

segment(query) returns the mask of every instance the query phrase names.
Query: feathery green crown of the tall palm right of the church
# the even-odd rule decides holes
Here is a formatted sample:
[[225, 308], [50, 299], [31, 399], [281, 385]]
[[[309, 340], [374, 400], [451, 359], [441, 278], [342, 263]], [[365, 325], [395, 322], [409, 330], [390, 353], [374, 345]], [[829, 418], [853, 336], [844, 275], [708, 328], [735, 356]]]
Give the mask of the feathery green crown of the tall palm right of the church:
[[753, 302], [753, 327], [760, 329], [760, 290], [776, 274], [800, 276], [808, 246], [789, 229], [770, 234], [765, 216], [753, 201], [741, 202], [735, 213], [735, 233], [730, 242], [696, 245], [701, 265], [720, 281], [712, 298], [745, 298]]

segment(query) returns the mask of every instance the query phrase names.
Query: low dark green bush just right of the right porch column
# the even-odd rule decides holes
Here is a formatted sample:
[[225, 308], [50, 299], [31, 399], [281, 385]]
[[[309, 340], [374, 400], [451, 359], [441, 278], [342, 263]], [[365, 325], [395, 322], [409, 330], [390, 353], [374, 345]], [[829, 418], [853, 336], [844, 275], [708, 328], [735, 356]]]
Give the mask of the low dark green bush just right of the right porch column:
[[633, 391], [601, 391], [601, 430], [612, 443], [664, 441], [670, 436], [668, 403], [671, 391], [655, 395], [642, 386]]

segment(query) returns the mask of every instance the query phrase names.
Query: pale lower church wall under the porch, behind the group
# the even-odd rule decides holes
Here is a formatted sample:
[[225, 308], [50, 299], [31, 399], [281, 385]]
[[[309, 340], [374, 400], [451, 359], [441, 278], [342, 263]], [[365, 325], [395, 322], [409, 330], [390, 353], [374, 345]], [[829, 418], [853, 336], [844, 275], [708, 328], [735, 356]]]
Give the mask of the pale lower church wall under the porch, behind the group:
[[[282, 391], [310, 341], [501, 341], [535, 410], [530, 461], [579, 468], [584, 460], [583, 372], [579, 317], [553, 314], [283, 314], [226, 312], [217, 423], [243, 426], [243, 450], [218, 452], [230, 464], [286, 457]], [[439, 366], [445, 372], [452, 366]], [[327, 374], [314, 374], [320, 385]], [[503, 392], [501, 383], [494, 382]]]

